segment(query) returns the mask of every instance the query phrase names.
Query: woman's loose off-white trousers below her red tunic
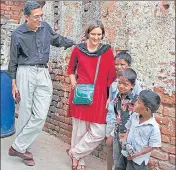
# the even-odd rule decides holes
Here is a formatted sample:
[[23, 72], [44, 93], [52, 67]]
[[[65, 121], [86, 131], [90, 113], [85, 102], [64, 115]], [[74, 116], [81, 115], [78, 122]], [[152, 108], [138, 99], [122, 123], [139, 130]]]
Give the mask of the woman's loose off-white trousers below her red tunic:
[[89, 155], [105, 138], [105, 124], [87, 122], [73, 118], [70, 153], [85, 165], [84, 157]]

